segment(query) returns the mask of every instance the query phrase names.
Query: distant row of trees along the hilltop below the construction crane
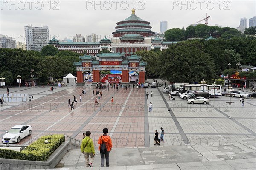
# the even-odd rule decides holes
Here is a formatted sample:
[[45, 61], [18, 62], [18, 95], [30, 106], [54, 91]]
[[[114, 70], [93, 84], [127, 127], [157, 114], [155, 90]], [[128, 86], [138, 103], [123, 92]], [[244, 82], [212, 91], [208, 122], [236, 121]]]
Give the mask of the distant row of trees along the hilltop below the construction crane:
[[244, 34], [241, 34], [241, 31], [230, 28], [218, 26], [207, 26], [204, 24], [198, 24], [197, 26], [188, 26], [186, 29], [183, 27], [172, 28], [165, 32], [165, 41], [183, 41], [188, 38], [208, 38], [209, 35], [213, 37], [221, 37], [223, 39], [230, 39], [232, 37], [245, 37], [245, 35], [254, 35], [256, 34], [256, 27], [246, 28]]

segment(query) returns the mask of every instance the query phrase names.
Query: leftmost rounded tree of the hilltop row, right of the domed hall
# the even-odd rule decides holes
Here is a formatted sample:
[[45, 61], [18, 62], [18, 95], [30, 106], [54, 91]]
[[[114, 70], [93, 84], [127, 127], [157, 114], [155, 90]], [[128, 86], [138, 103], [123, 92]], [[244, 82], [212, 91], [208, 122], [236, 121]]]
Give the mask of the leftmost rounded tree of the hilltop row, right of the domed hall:
[[169, 29], [165, 31], [164, 37], [166, 41], [183, 41], [185, 40], [184, 29]]

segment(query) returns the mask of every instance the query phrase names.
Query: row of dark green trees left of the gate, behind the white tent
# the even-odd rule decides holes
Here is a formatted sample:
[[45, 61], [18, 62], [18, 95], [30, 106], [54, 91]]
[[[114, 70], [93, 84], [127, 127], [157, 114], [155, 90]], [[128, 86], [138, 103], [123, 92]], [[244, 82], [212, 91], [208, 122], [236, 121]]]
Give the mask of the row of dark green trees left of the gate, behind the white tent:
[[52, 45], [44, 46], [41, 52], [22, 49], [0, 48], [0, 77], [5, 78], [7, 85], [16, 82], [20, 75], [22, 83], [31, 79], [33, 75], [41, 82], [49, 81], [50, 75], [62, 78], [64, 74], [71, 72], [76, 74], [76, 66], [73, 62], [79, 61], [79, 54], [72, 51], [58, 51]]

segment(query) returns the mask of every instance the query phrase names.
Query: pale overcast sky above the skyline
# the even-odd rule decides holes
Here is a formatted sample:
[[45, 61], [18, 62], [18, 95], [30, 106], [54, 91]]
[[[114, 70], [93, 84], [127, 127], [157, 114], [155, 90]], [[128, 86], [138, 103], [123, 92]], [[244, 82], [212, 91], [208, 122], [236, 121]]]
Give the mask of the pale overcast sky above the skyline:
[[[11, 2], [11, 3], [10, 3]], [[91, 33], [112, 37], [118, 21], [131, 15], [131, 10], [149, 21], [152, 31], [160, 31], [160, 21], [169, 28], [186, 28], [210, 15], [209, 26], [239, 26], [240, 18], [256, 16], [255, 0], [0, 0], [0, 34], [23, 41], [24, 26], [49, 27], [50, 38], [59, 39]], [[204, 23], [202, 21], [201, 23]]]

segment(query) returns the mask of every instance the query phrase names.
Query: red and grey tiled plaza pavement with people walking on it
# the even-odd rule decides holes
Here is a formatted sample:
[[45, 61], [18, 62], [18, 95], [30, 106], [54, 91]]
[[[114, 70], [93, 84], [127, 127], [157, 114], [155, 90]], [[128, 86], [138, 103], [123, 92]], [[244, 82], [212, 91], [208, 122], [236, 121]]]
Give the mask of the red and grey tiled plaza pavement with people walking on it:
[[[23, 93], [33, 94], [31, 102], [1, 108], [0, 137], [17, 124], [32, 125], [32, 135], [20, 144], [47, 134], [66, 134], [81, 140], [82, 133], [90, 130], [97, 150], [97, 140], [107, 127], [113, 141], [111, 169], [255, 169], [255, 98], [245, 99], [244, 107], [239, 99], [231, 98], [234, 103], [229, 119], [229, 98], [224, 96], [215, 98], [213, 108], [213, 98], [209, 105], [191, 105], [178, 96], [175, 101], [168, 100], [163, 87], [137, 90], [131, 86], [128, 90], [102, 90], [99, 105], [95, 106], [94, 86], [68, 86], [55, 88], [54, 92], [47, 88], [22, 88]], [[87, 94], [80, 102], [83, 88]], [[10, 92], [18, 93], [18, 88], [10, 88]], [[70, 111], [67, 100], [73, 101], [73, 95], [78, 103]], [[148, 112], [150, 102], [152, 112]], [[166, 133], [165, 143], [158, 147], [153, 145], [153, 135], [160, 127]], [[80, 150], [71, 150], [58, 167], [84, 169], [84, 163]], [[98, 151], [94, 166], [102, 169]]]

